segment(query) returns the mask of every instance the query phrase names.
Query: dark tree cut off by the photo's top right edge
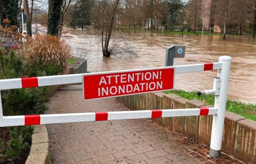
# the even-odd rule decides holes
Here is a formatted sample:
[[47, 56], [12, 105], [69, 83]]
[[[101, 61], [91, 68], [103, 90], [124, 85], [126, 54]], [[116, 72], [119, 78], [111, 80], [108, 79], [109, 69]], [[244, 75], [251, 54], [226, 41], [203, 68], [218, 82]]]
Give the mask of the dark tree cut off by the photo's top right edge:
[[252, 38], [256, 33], [256, 0], [247, 0], [248, 19], [252, 23]]

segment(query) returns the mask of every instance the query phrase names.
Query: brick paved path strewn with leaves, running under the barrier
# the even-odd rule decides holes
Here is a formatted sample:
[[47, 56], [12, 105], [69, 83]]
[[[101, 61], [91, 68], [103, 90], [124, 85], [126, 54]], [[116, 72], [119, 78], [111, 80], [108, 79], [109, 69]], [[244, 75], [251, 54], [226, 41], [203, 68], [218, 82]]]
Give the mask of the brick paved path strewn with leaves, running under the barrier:
[[[67, 85], [54, 93], [47, 113], [129, 110], [115, 98], [83, 101], [81, 87]], [[53, 163], [201, 163], [185, 153], [193, 147], [183, 144], [181, 136], [148, 119], [46, 126]]]

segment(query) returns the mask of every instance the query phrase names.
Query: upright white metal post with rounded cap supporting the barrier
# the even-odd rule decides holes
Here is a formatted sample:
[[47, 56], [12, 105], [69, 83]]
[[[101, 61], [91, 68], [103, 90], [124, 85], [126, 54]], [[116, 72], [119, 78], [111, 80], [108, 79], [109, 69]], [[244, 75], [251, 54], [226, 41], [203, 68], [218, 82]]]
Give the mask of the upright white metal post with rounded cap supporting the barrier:
[[210, 157], [218, 158], [221, 154], [222, 134], [224, 128], [224, 119], [226, 111], [227, 87], [230, 73], [230, 56], [220, 56], [219, 62], [223, 63], [222, 69], [218, 70], [218, 77], [222, 79], [220, 95], [215, 96], [214, 108], [217, 108], [217, 115], [213, 115]]

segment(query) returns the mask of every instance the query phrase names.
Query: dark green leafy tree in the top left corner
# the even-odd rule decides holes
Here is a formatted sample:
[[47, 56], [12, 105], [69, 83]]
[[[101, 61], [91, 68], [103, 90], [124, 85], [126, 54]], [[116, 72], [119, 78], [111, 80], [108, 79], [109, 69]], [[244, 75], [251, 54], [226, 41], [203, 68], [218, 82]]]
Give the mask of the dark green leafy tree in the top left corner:
[[[19, 27], [17, 15], [19, 14], [19, 0], [2, 0], [3, 19], [8, 18], [9, 26], [16, 25]], [[3, 21], [3, 20], [2, 20]]]

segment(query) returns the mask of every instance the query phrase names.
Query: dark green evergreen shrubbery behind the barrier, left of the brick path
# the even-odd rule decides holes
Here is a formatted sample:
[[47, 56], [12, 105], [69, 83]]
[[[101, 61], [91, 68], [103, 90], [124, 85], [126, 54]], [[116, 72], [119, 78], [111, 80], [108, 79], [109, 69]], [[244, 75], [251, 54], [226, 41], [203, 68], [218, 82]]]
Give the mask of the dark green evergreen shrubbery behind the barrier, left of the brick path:
[[[25, 61], [14, 50], [5, 50], [0, 47], [0, 79], [25, 77], [25, 73], [30, 71], [24, 63]], [[46, 75], [44, 70], [35, 70], [38, 70], [37, 76]], [[48, 100], [45, 96], [48, 91], [48, 87], [2, 90], [4, 115], [42, 114], [47, 109], [44, 102]], [[20, 156], [28, 154], [33, 128], [31, 126], [9, 127], [5, 130], [1, 129], [0, 136], [6, 136], [3, 133], [7, 130], [9, 137], [5, 137], [5, 140], [0, 139], [0, 160], [2, 162], [11, 160], [11, 163], [21, 162], [15, 160], [24, 160], [24, 158], [20, 159]]]

